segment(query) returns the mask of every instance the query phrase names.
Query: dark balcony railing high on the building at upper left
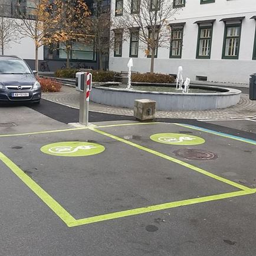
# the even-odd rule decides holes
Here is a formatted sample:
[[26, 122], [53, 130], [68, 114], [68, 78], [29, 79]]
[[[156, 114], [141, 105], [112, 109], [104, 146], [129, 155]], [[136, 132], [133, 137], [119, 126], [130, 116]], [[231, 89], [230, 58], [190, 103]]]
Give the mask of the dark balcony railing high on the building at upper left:
[[0, 5], [0, 17], [34, 19], [34, 8], [21, 5]]

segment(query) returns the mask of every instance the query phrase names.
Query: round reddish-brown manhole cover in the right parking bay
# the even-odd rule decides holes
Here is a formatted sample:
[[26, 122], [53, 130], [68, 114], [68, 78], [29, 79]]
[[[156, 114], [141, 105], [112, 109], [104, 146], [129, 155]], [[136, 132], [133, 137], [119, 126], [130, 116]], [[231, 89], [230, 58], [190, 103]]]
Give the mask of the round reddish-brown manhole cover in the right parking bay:
[[214, 160], [218, 158], [213, 152], [202, 149], [179, 149], [173, 151], [176, 156], [180, 156], [189, 160]]

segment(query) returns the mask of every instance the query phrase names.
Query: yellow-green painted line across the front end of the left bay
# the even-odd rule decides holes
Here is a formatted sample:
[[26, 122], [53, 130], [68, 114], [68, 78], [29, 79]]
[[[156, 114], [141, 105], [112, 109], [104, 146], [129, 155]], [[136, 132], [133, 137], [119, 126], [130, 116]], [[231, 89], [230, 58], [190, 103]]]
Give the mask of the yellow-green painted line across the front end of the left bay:
[[122, 211], [122, 212], [113, 212], [112, 214], [104, 214], [104, 215], [98, 215], [98, 216], [93, 216], [93, 217], [84, 218], [84, 219], [77, 219], [76, 222], [73, 222], [72, 224], [68, 225], [68, 227], [76, 227], [79, 225], [86, 225], [86, 224], [91, 224], [94, 222], [107, 221], [109, 219], [117, 219], [117, 218], [122, 218], [122, 217], [126, 217], [126, 216], [137, 215], [137, 214], [145, 214], [147, 212], [161, 211], [161, 210], [175, 208], [175, 207], [179, 207], [179, 206], [199, 204], [202, 202], [209, 202], [209, 201], [216, 201], [216, 200], [225, 199], [225, 198], [232, 198], [234, 196], [249, 195], [252, 193], [254, 193], [254, 192], [252, 192], [252, 191], [237, 191], [237, 192], [231, 192], [231, 193], [223, 193], [223, 194], [219, 194], [219, 195], [204, 196], [201, 198], [186, 199], [186, 200], [182, 200], [182, 201], [170, 202], [170, 203], [160, 204], [160, 205], [146, 206], [146, 207], [130, 209], [127, 211]]

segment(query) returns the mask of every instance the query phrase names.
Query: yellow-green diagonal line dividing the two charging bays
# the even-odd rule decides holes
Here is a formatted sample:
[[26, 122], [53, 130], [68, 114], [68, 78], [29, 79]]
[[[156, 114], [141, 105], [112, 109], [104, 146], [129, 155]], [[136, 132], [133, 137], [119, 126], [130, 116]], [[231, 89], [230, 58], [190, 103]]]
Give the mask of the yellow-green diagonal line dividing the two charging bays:
[[174, 157], [165, 155], [165, 154], [163, 154], [163, 153], [160, 153], [160, 152], [157, 152], [157, 151], [155, 151], [155, 150], [149, 149], [149, 148], [147, 148], [147, 147], [138, 145], [138, 144], [133, 143], [133, 142], [130, 142], [130, 141], [128, 141], [128, 140], [124, 140], [124, 139], [122, 139], [122, 138], [120, 138], [120, 137], [117, 137], [117, 136], [115, 136], [115, 135], [112, 135], [112, 134], [103, 132], [103, 131], [101, 131], [101, 130], [97, 130], [97, 129], [92, 128], [92, 127], [90, 127], [89, 129], [90, 129], [90, 130], [93, 130], [94, 132], [103, 134], [103, 135], [105, 135], [105, 136], [107, 136], [107, 137], [110, 137], [110, 138], [112, 138], [112, 139], [114, 139], [114, 140], [119, 140], [119, 142], [123, 142], [123, 143], [126, 143], [127, 145], [130, 145], [130, 146], [133, 146], [133, 147], [137, 147], [137, 149], [141, 149], [141, 150], [144, 150], [144, 151], [146, 151], [146, 152], [149, 152], [149, 153], [151, 153], [151, 154], [153, 154], [153, 155], [160, 156], [160, 157], [162, 157], [162, 158], [164, 158], [164, 159], [167, 159], [167, 160], [169, 160], [169, 161], [171, 161], [171, 162], [178, 163], [179, 165], [185, 166], [186, 168], [195, 170], [196, 172], [202, 173], [202, 174], [204, 174], [204, 175], [206, 175], [206, 176], [209, 176], [209, 177], [211, 177], [211, 178], [213, 178], [213, 179], [216, 179], [216, 180], [219, 180], [219, 181], [221, 181], [221, 182], [227, 183], [228, 185], [234, 186], [235, 188], [239, 188], [239, 189], [242, 189], [242, 190], [244, 190], [244, 191], [251, 191], [251, 189], [250, 189], [250, 188], [247, 188], [247, 186], [238, 184], [238, 183], [236, 183], [236, 182], [234, 182], [234, 181], [232, 181], [232, 180], [228, 180], [228, 179], [222, 178], [222, 177], [220, 177], [220, 176], [218, 176], [218, 175], [215, 175], [215, 174], [213, 174], [213, 173], [211, 173], [211, 172], [207, 172], [207, 171], [204, 170], [204, 169], [198, 168], [198, 167], [196, 167], [196, 166], [193, 166], [193, 165], [191, 165], [191, 164], [189, 164], [189, 163], [183, 162], [183, 161], [181, 161], [181, 160], [179, 160], [179, 159], [176, 159], [176, 158], [174, 158]]

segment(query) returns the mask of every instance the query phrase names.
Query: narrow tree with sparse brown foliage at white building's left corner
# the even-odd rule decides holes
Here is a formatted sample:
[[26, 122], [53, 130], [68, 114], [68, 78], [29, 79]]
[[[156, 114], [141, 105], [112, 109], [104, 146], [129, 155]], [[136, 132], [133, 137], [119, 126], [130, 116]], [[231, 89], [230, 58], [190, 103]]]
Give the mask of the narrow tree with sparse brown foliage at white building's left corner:
[[103, 5], [103, 0], [94, 0], [94, 13], [91, 16], [91, 34], [94, 35], [94, 49], [99, 56], [99, 69], [103, 70], [103, 54], [109, 54], [114, 45], [114, 38], [110, 37], [110, 6]]

